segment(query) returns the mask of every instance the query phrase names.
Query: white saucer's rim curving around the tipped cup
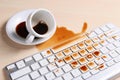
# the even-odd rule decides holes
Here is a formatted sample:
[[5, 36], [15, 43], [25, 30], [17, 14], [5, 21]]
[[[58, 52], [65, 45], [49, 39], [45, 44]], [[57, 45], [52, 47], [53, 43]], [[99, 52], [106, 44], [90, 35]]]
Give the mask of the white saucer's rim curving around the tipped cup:
[[[45, 37], [45, 38], [40, 38], [39, 40], [36, 40], [36, 41], [33, 41], [32, 43], [26, 43], [25, 41], [21, 41], [21, 40], [19, 40], [15, 35], [13, 36], [13, 34], [12, 34], [12, 36], [11, 36], [11, 33], [13, 32], [13, 31], [8, 31], [8, 28], [9, 28], [9, 25], [10, 24], [12, 24], [11, 23], [11, 20], [15, 20], [15, 17], [17, 17], [18, 15], [20, 15], [21, 14], [21, 16], [22, 16], [22, 14], [25, 14], [26, 12], [27, 12], [27, 14], [30, 14], [30, 12], [32, 12], [32, 11], [34, 11], [35, 9], [28, 9], [28, 10], [23, 10], [23, 11], [21, 11], [21, 12], [18, 12], [18, 13], [16, 13], [15, 15], [13, 15], [8, 21], [7, 21], [7, 24], [6, 24], [6, 33], [7, 33], [7, 35], [8, 35], [8, 37], [12, 40], [12, 41], [14, 41], [14, 42], [16, 42], [16, 43], [18, 43], [18, 44], [22, 44], [22, 45], [37, 45], [37, 44], [41, 44], [41, 43], [43, 43], [43, 42], [45, 42], [45, 41], [47, 41], [48, 39], [50, 39], [52, 36], [53, 36], [53, 34], [51, 34], [49, 37]], [[18, 18], [18, 17], [17, 17]], [[17, 19], [16, 18], [16, 19]], [[24, 20], [23, 20], [24, 21]], [[23, 22], [23, 21], [21, 21], [21, 22]], [[14, 25], [14, 26], [16, 26], [16, 25]], [[20, 37], [19, 37], [20, 38]], [[23, 40], [25, 40], [25, 39], [23, 39]]]

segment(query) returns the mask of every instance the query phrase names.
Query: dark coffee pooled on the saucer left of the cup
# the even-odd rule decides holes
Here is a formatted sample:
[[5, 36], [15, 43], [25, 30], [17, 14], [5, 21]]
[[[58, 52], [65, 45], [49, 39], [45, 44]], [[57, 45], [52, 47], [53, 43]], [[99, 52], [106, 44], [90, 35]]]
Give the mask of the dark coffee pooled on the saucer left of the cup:
[[22, 37], [22, 38], [26, 38], [28, 35], [28, 31], [26, 29], [26, 25], [25, 22], [21, 22], [17, 25], [16, 27], [16, 33]]

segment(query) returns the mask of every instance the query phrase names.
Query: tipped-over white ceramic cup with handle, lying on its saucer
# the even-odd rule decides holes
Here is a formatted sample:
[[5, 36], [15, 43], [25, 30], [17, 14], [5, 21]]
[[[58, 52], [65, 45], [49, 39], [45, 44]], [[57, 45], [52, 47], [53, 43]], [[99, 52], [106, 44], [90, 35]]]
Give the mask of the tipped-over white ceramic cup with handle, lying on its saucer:
[[[35, 27], [39, 22], [45, 23], [48, 27], [48, 30], [44, 34], [37, 33], [33, 27]], [[40, 26], [41, 27], [41, 26]], [[26, 28], [29, 32], [26, 37], [26, 43], [32, 43], [37, 38], [50, 37], [51, 34], [54, 34], [56, 31], [56, 21], [53, 14], [46, 9], [37, 9], [34, 10], [26, 20]], [[39, 28], [40, 29], [40, 28]]]

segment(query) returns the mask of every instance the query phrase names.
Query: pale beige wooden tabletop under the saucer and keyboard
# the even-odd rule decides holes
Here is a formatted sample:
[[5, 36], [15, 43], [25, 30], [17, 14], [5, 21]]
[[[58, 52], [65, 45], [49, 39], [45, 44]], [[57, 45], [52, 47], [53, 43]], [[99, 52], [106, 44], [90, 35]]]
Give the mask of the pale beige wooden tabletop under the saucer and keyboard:
[[78, 33], [84, 22], [88, 24], [87, 31], [105, 23], [120, 26], [119, 3], [120, 0], [0, 0], [0, 80], [5, 80], [3, 68], [7, 64], [41, 50], [36, 46], [15, 45], [6, 36], [6, 22], [17, 12], [26, 9], [49, 9], [58, 26], [65, 26]]

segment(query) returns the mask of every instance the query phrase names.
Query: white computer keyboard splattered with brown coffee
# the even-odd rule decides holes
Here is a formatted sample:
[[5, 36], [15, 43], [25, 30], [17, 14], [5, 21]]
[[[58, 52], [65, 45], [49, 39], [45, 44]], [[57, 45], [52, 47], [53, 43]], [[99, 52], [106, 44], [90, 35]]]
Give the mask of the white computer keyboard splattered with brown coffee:
[[5, 67], [10, 80], [107, 80], [120, 73], [120, 29], [106, 24], [63, 50], [52, 48]]

